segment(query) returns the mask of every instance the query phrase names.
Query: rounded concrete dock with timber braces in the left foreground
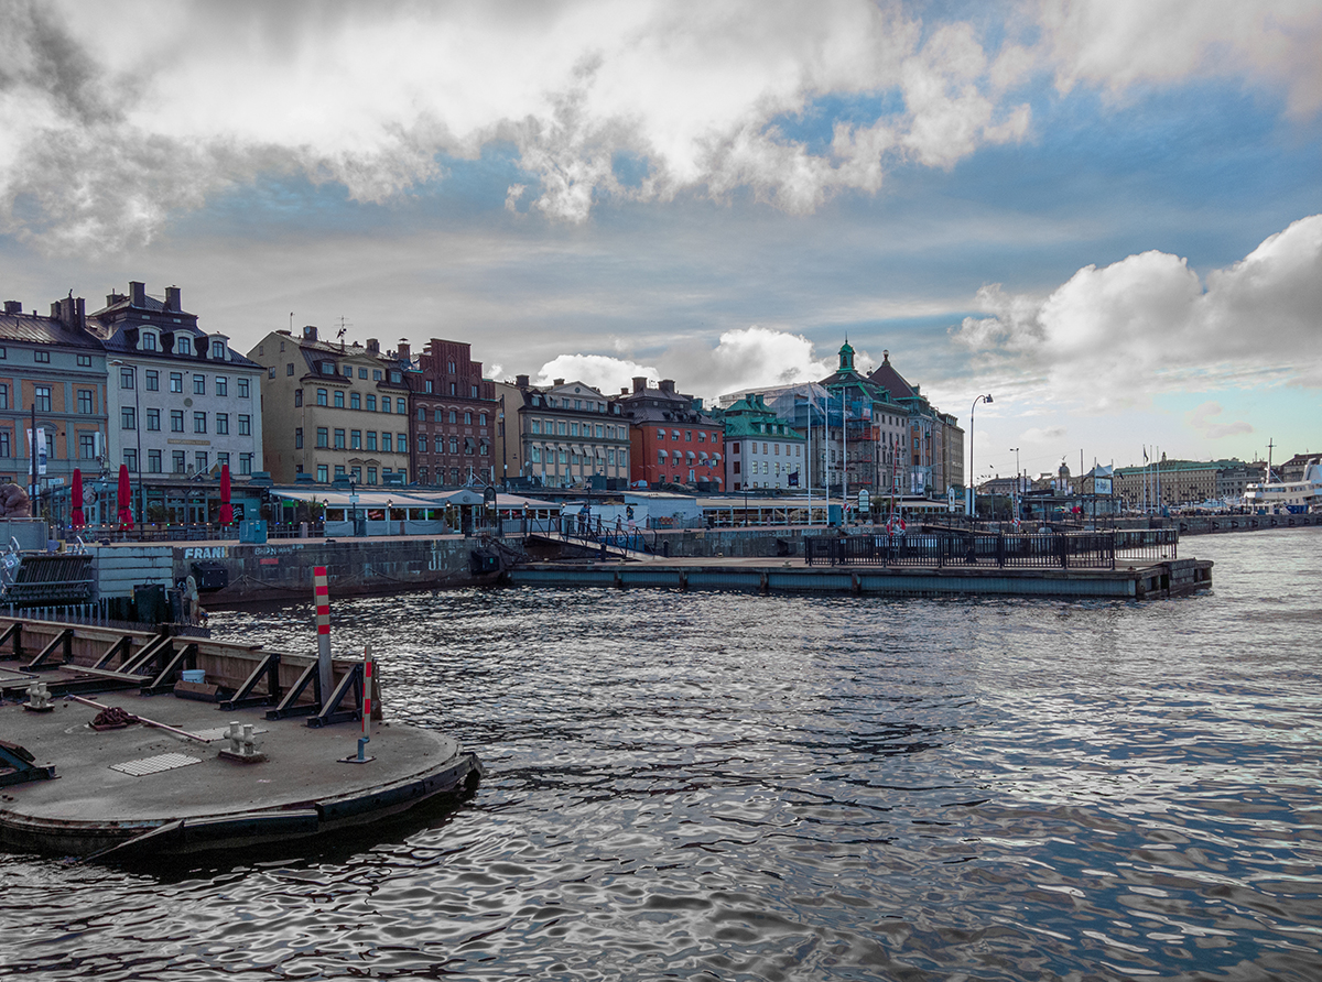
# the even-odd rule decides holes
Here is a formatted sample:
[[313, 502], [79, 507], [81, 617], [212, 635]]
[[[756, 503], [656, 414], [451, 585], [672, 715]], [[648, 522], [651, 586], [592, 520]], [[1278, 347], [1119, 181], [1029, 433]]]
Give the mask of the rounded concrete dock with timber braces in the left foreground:
[[0, 619], [0, 843], [168, 856], [333, 834], [476, 788], [477, 757], [443, 734], [378, 723], [360, 743], [362, 662], [334, 662], [325, 702], [316, 663]]

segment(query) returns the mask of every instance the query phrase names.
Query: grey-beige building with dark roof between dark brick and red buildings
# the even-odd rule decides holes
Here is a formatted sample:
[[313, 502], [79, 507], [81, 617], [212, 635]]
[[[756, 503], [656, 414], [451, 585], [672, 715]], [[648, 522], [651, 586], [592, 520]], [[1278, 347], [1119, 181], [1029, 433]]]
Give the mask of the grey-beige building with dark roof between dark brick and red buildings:
[[501, 467], [506, 477], [535, 478], [545, 488], [629, 480], [629, 422], [599, 389], [563, 378], [535, 387], [527, 375], [496, 389], [504, 399]]

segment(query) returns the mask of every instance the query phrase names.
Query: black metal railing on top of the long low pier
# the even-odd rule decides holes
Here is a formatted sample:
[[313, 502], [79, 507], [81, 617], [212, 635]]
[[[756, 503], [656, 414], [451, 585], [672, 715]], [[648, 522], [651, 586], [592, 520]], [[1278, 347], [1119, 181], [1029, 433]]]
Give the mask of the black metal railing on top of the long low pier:
[[1104, 533], [818, 535], [804, 539], [808, 566], [927, 566], [1114, 570], [1117, 559], [1175, 559], [1173, 529]]

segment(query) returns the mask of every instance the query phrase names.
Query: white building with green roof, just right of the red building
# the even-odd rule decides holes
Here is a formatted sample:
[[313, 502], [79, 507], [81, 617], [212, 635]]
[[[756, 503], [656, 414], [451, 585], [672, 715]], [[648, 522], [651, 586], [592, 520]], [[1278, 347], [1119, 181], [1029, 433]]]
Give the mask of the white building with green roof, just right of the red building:
[[808, 440], [781, 420], [761, 395], [744, 395], [726, 408], [722, 419], [730, 490], [806, 488]]

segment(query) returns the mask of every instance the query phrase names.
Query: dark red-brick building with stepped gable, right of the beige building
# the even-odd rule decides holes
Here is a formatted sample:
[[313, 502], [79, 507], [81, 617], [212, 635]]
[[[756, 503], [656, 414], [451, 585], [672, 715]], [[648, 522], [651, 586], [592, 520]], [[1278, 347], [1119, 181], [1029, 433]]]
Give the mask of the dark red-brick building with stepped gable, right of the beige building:
[[[407, 350], [401, 344], [401, 350]], [[463, 341], [432, 338], [412, 377], [414, 473], [418, 484], [494, 484], [502, 477], [496, 385]]]

